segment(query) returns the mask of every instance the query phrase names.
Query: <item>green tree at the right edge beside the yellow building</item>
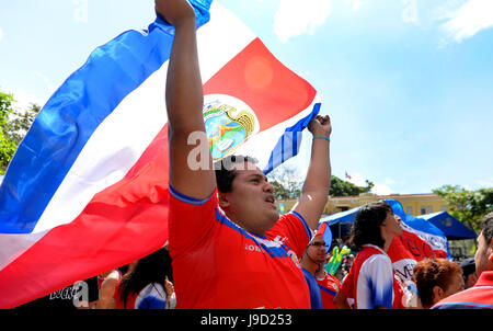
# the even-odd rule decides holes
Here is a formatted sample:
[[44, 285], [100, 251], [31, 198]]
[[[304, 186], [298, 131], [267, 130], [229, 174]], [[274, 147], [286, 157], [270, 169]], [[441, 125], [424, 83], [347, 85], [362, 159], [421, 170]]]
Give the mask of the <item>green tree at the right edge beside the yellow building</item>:
[[459, 185], [432, 190], [447, 203], [451, 216], [480, 232], [481, 219], [493, 210], [493, 187], [469, 191]]

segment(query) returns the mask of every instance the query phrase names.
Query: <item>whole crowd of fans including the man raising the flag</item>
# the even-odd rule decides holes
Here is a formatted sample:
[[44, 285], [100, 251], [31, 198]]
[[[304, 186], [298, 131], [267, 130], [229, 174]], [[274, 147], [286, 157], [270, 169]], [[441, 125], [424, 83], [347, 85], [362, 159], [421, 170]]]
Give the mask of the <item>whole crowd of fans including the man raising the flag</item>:
[[[402, 235], [385, 202], [363, 206], [355, 218], [339, 277], [326, 272], [328, 247], [316, 232], [331, 179], [329, 116], [316, 116], [311, 159], [297, 205], [279, 215], [274, 189], [249, 157], [230, 156], [192, 170], [188, 155], [210, 156], [206, 135], [195, 12], [185, 0], [157, 0], [175, 27], [167, 79], [170, 144], [169, 242], [125, 269], [88, 279], [85, 308], [493, 308], [493, 213], [483, 220], [474, 258], [463, 269], [445, 259], [414, 267], [417, 304], [410, 305], [387, 250]], [[207, 141], [207, 139], [205, 139]], [[471, 274], [478, 276], [475, 279]], [[94, 282], [95, 279], [95, 282]], [[100, 279], [98, 282], [98, 279]], [[475, 284], [473, 284], [475, 281]], [[467, 288], [466, 288], [467, 287]], [[466, 289], [465, 289], [466, 288]], [[66, 293], [76, 293], [72, 288]], [[61, 298], [50, 295], [46, 299]], [[65, 296], [70, 299], [70, 295]], [[73, 297], [73, 296], [72, 296]], [[26, 306], [30, 306], [27, 304]]]

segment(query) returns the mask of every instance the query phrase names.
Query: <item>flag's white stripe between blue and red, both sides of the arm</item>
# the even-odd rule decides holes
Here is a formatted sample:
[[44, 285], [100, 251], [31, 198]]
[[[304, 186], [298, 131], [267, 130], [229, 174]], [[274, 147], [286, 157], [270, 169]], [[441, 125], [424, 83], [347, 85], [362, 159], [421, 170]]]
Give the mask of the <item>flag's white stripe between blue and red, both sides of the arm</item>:
[[[198, 30], [197, 37], [204, 82], [255, 37], [243, 22], [221, 7], [213, 5], [211, 15], [215, 19]], [[167, 123], [167, 72], [168, 61], [103, 121], [54, 194], [33, 232], [71, 222], [96, 193], [121, 181], [131, 169]]]

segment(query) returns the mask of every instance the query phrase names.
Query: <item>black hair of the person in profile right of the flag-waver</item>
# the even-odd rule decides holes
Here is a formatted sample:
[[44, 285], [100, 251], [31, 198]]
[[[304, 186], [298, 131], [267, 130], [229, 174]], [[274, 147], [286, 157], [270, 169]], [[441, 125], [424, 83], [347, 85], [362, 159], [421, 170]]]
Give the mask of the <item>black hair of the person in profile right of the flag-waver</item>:
[[385, 239], [381, 237], [380, 226], [387, 218], [387, 212], [392, 207], [386, 202], [375, 202], [362, 206], [351, 228], [351, 243], [358, 250], [364, 244], [375, 244], [383, 249]]

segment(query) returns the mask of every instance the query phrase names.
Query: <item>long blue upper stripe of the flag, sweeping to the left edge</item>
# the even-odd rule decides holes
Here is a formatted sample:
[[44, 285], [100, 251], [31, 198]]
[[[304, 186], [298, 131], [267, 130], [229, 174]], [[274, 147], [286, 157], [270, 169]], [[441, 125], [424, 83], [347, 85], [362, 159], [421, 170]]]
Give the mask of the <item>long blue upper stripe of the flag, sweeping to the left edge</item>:
[[[197, 26], [207, 22], [211, 0], [191, 2], [196, 5]], [[169, 59], [173, 42], [169, 31], [158, 18], [147, 32], [122, 33], [96, 48], [54, 93], [19, 146], [0, 187], [0, 232], [33, 231], [98, 126]]]

